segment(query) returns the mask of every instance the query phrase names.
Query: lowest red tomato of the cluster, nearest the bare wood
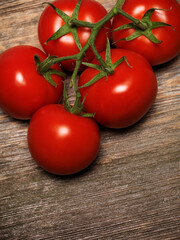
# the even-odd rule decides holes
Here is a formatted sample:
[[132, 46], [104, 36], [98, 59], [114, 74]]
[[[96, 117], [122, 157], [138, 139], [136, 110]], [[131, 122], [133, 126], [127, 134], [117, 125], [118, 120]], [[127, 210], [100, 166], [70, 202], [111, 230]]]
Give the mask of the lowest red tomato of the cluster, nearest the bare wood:
[[63, 105], [50, 104], [32, 117], [28, 145], [37, 164], [50, 173], [69, 175], [95, 159], [100, 135], [93, 119], [67, 112]]

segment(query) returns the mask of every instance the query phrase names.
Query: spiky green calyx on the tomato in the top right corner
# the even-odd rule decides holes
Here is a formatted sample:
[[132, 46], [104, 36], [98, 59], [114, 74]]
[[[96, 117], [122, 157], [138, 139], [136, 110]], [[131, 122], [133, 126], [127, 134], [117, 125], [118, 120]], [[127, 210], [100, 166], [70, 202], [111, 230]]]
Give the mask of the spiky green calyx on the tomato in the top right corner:
[[[152, 33], [152, 30], [155, 28], [159, 28], [159, 27], [172, 27], [172, 26], [167, 23], [164, 23], [164, 22], [151, 21], [151, 16], [155, 10], [169, 11], [166, 9], [151, 8], [144, 14], [141, 21], [139, 21], [139, 23], [141, 23], [141, 25], [138, 23], [138, 20], [136, 19], [136, 21], [133, 21], [132, 23], [124, 24], [124, 25], [116, 28], [113, 32], [116, 32], [119, 30], [124, 30], [124, 29], [130, 29], [130, 28], [131, 29], [133, 28], [136, 30], [132, 35], [130, 35], [126, 38], [120, 39], [116, 42], [131, 41], [131, 40], [136, 39], [143, 35], [143, 36], [147, 37], [153, 43], [156, 43], [156, 44], [162, 43], [162, 41], [158, 40], [154, 36], [154, 34]], [[119, 13], [122, 13], [122, 12], [123, 12], [122, 10], [119, 10]], [[124, 14], [122, 14], [122, 15], [124, 15]], [[114, 43], [116, 43], [116, 42], [114, 42]]]

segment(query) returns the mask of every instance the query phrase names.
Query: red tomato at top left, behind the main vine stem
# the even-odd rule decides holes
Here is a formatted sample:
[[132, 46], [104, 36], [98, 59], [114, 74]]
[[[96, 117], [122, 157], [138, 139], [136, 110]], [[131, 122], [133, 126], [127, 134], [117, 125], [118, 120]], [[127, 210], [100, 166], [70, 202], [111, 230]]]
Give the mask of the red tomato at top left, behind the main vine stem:
[[[71, 16], [78, 0], [56, 0], [53, 5], [61, 9], [68, 16]], [[82, 0], [78, 19], [82, 21], [88, 21], [96, 23], [107, 14], [105, 8], [94, 0]], [[38, 25], [39, 41], [44, 51], [50, 55], [56, 55], [58, 57], [74, 55], [79, 52], [79, 49], [75, 43], [72, 33], [68, 33], [65, 36], [58, 38], [57, 40], [45, 42], [62, 26], [64, 21], [55, 12], [51, 6], [47, 6], [43, 11]], [[97, 35], [95, 46], [99, 52], [103, 51], [106, 47], [106, 33], [110, 31], [111, 24], [108, 22], [105, 24], [105, 28], [102, 28]], [[85, 27], [78, 27], [78, 37], [82, 47], [86, 44], [91, 30]], [[88, 49], [83, 61], [90, 62], [94, 57], [91, 49]], [[62, 67], [65, 70], [72, 71], [75, 66], [75, 61], [68, 60], [62, 62]]]

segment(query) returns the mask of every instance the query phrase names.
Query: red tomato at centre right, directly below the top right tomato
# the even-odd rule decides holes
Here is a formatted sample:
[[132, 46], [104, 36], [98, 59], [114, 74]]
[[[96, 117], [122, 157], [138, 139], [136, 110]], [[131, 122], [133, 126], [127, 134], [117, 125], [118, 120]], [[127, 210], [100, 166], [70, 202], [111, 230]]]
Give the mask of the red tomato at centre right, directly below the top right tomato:
[[[105, 52], [100, 55], [105, 59]], [[86, 96], [85, 110], [95, 113], [95, 120], [109, 128], [125, 128], [136, 123], [149, 110], [157, 94], [157, 81], [149, 62], [136, 52], [111, 49], [112, 63], [123, 56], [131, 67], [123, 61], [112, 75], [80, 88], [82, 99]], [[87, 68], [80, 75], [79, 86], [97, 73], [98, 70]]]

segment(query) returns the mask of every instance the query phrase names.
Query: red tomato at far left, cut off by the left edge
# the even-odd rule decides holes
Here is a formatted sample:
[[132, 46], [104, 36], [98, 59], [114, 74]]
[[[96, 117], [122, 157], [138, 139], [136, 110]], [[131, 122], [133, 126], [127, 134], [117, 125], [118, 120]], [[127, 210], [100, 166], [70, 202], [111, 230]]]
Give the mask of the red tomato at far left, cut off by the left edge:
[[[16, 46], [0, 55], [0, 108], [17, 119], [30, 119], [48, 103], [58, 103], [63, 93], [62, 78], [52, 76], [57, 87], [37, 73], [34, 55], [47, 56], [32, 46]], [[53, 68], [59, 69], [58, 66]]]

